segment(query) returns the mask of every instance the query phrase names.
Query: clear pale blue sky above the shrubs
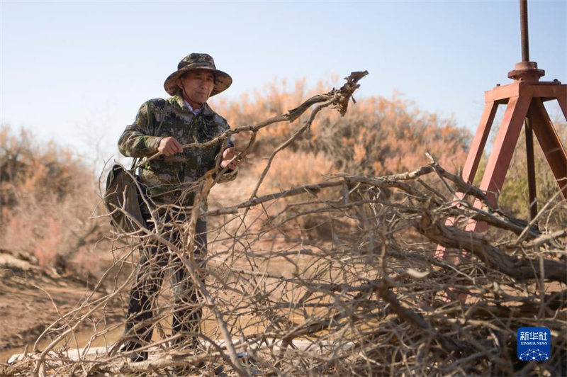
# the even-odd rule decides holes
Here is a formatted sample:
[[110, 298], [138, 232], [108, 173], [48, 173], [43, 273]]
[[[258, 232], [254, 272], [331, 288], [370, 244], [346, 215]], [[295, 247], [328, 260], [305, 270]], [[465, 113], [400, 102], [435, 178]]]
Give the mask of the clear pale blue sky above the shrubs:
[[[567, 0], [528, 14], [530, 60], [567, 83]], [[517, 0], [0, 0], [0, 43], [0, 123], [105, 160], [191, 52], [232, 76], [225, 99], [366, 69], [356, 99], [401, 93], [471, 133], [484, 92], [522, 60]]]

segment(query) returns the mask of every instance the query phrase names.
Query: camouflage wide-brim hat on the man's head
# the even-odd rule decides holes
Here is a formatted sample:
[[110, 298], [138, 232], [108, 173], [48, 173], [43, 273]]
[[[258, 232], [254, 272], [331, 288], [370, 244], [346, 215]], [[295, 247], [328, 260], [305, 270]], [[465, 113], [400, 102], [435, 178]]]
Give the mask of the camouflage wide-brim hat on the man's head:
[[164, 82], [165, 91], [171, 96], [179, 94], [181, 89], [177, 86], [177, 79], [193, 69], [208, 69], [213, 72], [215, 76], [215, 86], [213, 86], [213, 91], [210, 92], [210, 96], [215, 96], [221, 91], [225, 91], [230, 84], [232, 84], [232, 77], [230, 77], [228, 73], [220, 71], [220, 69], [215, 67], [215, 61], [212, 56], [193, 53], [184, 57], [183, 60], [177, 64], [177, 70], [167, 77]]

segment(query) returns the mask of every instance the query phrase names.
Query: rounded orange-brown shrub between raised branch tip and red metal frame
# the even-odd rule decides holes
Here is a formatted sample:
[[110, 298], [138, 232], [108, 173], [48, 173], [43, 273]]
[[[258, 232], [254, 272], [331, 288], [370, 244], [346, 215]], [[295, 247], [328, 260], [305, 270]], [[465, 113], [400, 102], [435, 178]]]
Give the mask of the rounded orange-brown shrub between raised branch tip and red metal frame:
[[360, 100], [344, 118], [329, 115], [316, 125], [310, 147], [330, 154], [344, 171], [395, 174], [427, 163], [426, 152], [449, 169], [466, 159], [466, 130], [397, 94]]

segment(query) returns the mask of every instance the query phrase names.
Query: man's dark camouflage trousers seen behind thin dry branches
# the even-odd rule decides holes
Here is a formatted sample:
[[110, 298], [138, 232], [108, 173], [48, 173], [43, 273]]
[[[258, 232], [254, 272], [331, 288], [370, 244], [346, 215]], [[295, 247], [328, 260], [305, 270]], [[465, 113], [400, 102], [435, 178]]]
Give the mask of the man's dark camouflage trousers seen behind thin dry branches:
[[[150, 215], [145, 213], [146, 219]], [[168, 216], [169, 218], [169, 216]], [[179, 225], [185, 220], [184, 217], [177, 215], [175, 223]], [[167, 223], [167, 222], [166, 222]], [[148, 227], [153, 228], [152, 223], [148, 222]], [[206, 256], [207, 245], [207, 223], [205, 220], [198, 220], [196, 223], [195, 248], [193, 255], [201, 270], [204, 269], [204, 257]], [[181, 247], [181, 235], [169, 227], [160, 234], [169, 239], [169, 242]], [[183, 249], [183, 248], [181, 248]], [[199, 324], [202, 317], [202, 309], [199, 301], [200, 293], [195, 286], [193, 279], [189, 275], [186, 266], [179, 260], [176, 254], [169, 252], [163, 244], [152, 243], [140, 248], [140, 269], [130, 291], [130, 302], [128, 305], [128, 316], [125, 325], [126, 342], [122, 347], [123, 351], [133, 351], [152, 339], [155, 327], [155, 309], [157, 305], [157, 294], [162, 286], [162, 281], [166, 273], [172, 276], [172, 290], [174, 296], [172, 315], [172, 334], [180, 334], [181, 337], [175, 340], [176, 347], [191, 349], [196, 347], [199, 332]], [[200, 277], [204, 280], [204, 276]], [[141, 359], [146, 359], [145, 353]], [[137, 361], [140, 361], [139, 359]]]

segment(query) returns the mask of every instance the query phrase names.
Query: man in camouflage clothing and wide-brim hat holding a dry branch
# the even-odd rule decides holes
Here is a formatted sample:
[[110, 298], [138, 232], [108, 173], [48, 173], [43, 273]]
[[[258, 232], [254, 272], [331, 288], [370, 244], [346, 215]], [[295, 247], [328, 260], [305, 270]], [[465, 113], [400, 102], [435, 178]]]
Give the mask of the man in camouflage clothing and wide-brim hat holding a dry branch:
[[[213, 171], [218, 182], [236, 178], [240, 159], [230, 138], [202, 145], [229, 129], [226, 120], [206, 102], [230, 84], [232, 78], [216, 69], [210, 55], [193, 53], [184, 57], [164, 82], [171, 97], [145, 102], [135, 122], [126, 127], [118, 141], [125, 156], [154, 157], [159, 152], [157, 158], [148, 159], [140, 167], [139, 181], [150, 203], [150, 208], [142, 206], [142, 214], [150, 230], [182, 252], [193, 252], [201, 268], [206, 254], [206, 220], [197, 220], [193, 250], [184, 249], [187, 235], [181, 235], [180, 225], [189, 219], [199, 182], [206, 172], [216, 169]], [[198, 344], [202, 311], [189, 271], [164, 244], [145, 240], [140, 247], [140, 269], [130, 293], [125, 343], [121, 348], [121, 351], [133, 351], [130, 354], [133, 361], [147, 359], [147, 351], [136, 350], [152, 338], [155, 296], [167, 270], [172, 274], [175, 297], [172, 320], [175, 343], [185, 348]]]

